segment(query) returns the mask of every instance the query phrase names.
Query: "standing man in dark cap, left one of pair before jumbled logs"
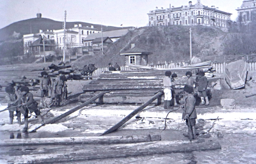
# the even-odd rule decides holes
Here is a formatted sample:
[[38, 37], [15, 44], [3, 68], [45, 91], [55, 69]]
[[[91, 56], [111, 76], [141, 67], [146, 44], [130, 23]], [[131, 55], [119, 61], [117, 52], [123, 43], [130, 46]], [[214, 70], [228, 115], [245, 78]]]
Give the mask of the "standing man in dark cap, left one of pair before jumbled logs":
[[43, 78], [40, 79], [41, 97], [49, 97], [52, 90], [52, 81], [46, 71], [41, 72]]

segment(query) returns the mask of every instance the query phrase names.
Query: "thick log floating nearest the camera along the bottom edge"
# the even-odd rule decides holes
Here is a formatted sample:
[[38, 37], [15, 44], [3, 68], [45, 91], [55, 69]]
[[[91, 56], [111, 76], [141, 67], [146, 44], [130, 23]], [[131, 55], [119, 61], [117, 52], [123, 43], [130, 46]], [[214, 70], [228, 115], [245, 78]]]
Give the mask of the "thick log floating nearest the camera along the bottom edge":
[[[53, 148], [52, 148], [53, 149]], [[10, 156], [4, 153], [1, 158], [12, 163], [70, 163], [75, 160], [94, 160], [106, 158], [119, 158], [128, 156], [146, 156], [154, 154], [169, 154], [169, 153], [186, 153], [191, 151], [204, 151], [221, 149], [221, 145], [216, 142], [195, 143], [192, 141], [152, 141], [135, 144], [116, 144], [116, 145], [100, 145], [86, 148], [68, 148], [62, 150], [54, 149], [54, 152], [40, 154], [28, 154]], [[34, 150], [35, 151], [35, 150]], [[42, 150], [43, 151], [43, 150]], [[48, 150], [49, 151], [49, 150]], [[15, 153], [14, 153], [15, 154]], [[87, 162], [87, 161], [86, 161]], [[89, 162], [89, 161], [88, 161]]]

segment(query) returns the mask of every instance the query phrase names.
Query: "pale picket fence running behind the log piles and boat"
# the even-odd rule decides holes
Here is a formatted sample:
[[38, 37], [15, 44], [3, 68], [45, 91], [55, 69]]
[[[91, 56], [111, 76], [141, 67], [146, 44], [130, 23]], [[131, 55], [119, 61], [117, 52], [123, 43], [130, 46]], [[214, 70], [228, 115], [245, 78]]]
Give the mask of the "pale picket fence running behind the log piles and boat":
[[[171, 64], [158, 64], [152, 66], [152, 68], [179, 68], [182, 66], [187, 66], [188, 63], [171, 63]], [[217, 74], [223, 74], [225, 72], [227, 63], [218, 63], [218, 64], [213, 64], [213, 69], [215, 69], [215, 73]], [[128, 68], [125, 66], [120, 67], [121, 70], [131, 70], [132, 68]], [[256, 63], [248, 63], [248, 71], [255, 71], [256, 70]], [[100, 76], [103, 71], [108, 71], [108, 67], [105, 68], [98, 68], [96, 71], [93, 72], [92, 76]]]

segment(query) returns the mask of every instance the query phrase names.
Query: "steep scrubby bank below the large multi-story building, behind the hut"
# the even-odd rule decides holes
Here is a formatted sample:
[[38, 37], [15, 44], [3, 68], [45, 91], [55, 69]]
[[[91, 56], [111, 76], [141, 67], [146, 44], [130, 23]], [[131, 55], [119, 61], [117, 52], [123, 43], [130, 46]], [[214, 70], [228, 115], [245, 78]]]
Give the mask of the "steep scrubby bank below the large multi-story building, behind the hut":
[[[113, 43], [104, 56], [83, 56], [73, 65], [82, 66], [88, 61], [96, 63], [97, 67], [107, 66], [117, 62], [124, 65], [124, 56], [120, 52], [130, 49], [131, 43], [135, 47], [153, 54], [149, 55], [149, 63], [158, 61], [188, 61], [189, 60], [189, 28], [190, 26], [150, 26], [130, 31]], [[218, 28], [205, 26], [191, 26], [192, 54], [197, 57], [216, 56], [223, 53], [223, 40], [228, 33]]]

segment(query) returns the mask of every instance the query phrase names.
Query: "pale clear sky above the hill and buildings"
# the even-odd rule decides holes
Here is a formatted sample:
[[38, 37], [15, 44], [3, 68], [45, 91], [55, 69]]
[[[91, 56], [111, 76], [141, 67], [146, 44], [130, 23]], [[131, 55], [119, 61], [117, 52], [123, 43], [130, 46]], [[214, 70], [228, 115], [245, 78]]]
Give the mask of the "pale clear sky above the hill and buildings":
[[[164, 9], [169, 5], [180, 7], [190, 0], [0, 0], [0, 29], [16, 21], [35, 18], [42, 13], [43, 18], [64, 21], [82, 21], [108, 26], [146, 26], [150, 10]], [[192, 0], [194, 5], [197, 0]], [[205, 6], [219, 7], [219, 10], [232, 13], [231, 20], [237, 17], [237, 9], [243, 0], [201, 0]]]

